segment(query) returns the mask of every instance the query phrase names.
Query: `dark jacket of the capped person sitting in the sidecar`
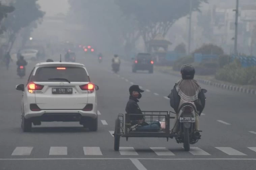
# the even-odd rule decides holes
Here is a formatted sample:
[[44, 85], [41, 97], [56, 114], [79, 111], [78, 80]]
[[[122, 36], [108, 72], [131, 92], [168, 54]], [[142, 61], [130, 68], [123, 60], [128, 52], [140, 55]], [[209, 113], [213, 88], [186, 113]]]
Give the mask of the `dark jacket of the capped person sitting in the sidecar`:
[[130, 121], [136, 121], [136, 120], [144, 119], [144, 116], [143, 116], [137, 102], [139, 102], [138, 99], [134, 98], [133, 96], [130, 96], [129, 101], [126, 104], [125, 111], [126, 111], [127, 114], [138, 114], [138, 115], [131, 115], [130, 116]]

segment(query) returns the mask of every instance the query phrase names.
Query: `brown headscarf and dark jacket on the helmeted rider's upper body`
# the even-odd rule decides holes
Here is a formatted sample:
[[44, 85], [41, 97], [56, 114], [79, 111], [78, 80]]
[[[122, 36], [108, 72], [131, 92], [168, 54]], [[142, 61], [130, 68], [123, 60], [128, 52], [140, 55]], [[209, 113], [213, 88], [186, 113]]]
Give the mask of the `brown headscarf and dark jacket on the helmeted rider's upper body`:
[[170, 98], [170, 105], [176, 113], [179, 112], [181, 105], [184, 103], [193, 104], [198, 111], [198, 115], [201, 115], [205, 107], [205, 95], [196, 80], [178, 81], [168, 97]]

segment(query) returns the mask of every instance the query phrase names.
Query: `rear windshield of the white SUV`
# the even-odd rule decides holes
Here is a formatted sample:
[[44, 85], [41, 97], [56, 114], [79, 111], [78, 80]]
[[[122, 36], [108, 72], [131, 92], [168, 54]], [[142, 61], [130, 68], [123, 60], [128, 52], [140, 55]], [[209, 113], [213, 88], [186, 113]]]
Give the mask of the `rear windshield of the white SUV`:
[[36, 70], [35, 75], [32, 78], [32, 81], [60, 81], [49, 80], [54, 78], [64, 78], [70, 82], [90, 82], [89, 76], [87, 75], [85, 69], [79, 67], [40, 67]]

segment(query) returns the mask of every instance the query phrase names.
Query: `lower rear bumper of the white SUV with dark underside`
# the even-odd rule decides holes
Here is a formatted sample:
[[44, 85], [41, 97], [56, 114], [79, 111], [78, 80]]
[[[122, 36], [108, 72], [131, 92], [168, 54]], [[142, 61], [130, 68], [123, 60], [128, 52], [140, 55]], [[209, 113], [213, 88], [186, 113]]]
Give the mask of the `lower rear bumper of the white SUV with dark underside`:
[[25, 119], [33, 119], [42, 122], [63, 121], [76, 122], [82, 117], [97, 118], [97, 111], [81, 111], [81, 110], [41, 110], [38, 112], [25, 113]]

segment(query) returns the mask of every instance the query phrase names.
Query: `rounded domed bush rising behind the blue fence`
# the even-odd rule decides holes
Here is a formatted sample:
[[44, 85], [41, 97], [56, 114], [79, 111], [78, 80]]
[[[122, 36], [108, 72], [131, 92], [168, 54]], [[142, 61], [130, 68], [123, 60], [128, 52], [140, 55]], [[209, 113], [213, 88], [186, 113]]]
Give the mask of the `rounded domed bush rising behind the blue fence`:
[[201, 54], [213, 54], [213, 55], [222, 55], [224, 54], [224, 51], [221, 47], [214, 45], [214, 44], [204, 44], [202, 47], [196, 49], [193, 52], [193, 55], [195, 53], [201, 53]]

